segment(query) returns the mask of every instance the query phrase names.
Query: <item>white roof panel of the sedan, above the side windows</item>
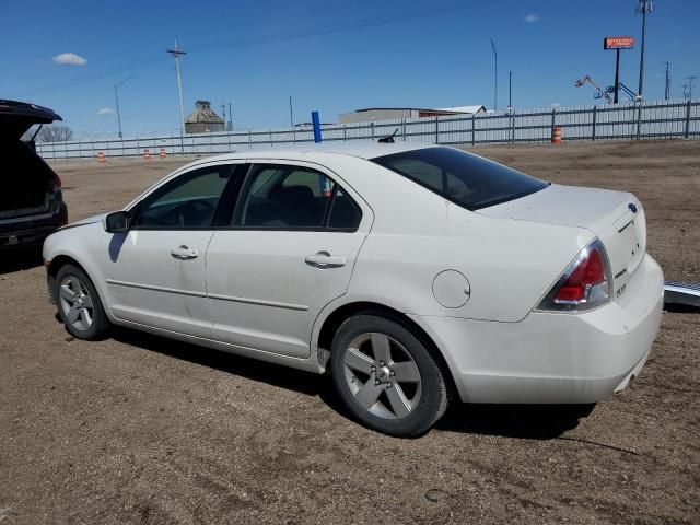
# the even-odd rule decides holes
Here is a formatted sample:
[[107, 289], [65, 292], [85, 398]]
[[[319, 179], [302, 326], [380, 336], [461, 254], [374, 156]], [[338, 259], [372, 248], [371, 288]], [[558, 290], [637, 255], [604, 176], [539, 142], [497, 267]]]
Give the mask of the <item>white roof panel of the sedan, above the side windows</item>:
[[304, 143], [289, 148], [270, 148], [266, 150], [247, 150], [213, 155], [195, 162], [199, 164], [212, 161], [233, 161], [241, 159], [298, 159], [308, 160], [315, 154], [338, 154], [357, 156], [360, 159], [376, 159], [378, 156], [390, 155], [404, 151], [421, 150], [434, 148], [434, 144], [418, 144], [412, 142], [400, 143], [378, 143], [375, 141], [352, 141], [352, 142], [322, 142], [320, 144]]

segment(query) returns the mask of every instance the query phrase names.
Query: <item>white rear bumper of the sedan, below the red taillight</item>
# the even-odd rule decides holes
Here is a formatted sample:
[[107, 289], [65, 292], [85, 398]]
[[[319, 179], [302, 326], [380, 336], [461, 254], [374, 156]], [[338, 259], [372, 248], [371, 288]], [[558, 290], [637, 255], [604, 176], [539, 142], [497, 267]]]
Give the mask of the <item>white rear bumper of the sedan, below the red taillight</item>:
[[464, 401], [584, 404], [627, 386], [661, 325], [664, 280], [646, 255], [615, 302], [520, 323], [415, 316], [443, 350]]

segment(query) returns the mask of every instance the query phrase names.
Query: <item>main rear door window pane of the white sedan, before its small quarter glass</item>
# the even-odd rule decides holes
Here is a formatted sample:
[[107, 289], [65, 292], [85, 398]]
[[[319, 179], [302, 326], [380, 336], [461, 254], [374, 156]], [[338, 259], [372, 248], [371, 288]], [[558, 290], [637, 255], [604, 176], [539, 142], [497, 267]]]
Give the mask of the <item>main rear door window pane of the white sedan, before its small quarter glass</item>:
[[303, 166], [256, 165], [248, 174], [235, 226], [324, 228], [336, 183]]

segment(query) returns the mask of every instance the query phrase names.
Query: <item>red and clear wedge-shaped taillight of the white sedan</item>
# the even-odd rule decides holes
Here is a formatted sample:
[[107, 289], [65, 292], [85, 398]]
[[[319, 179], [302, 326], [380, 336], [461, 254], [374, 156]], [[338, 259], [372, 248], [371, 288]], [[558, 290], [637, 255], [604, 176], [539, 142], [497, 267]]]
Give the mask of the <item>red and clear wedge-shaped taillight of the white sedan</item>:
[[610, 265], [597, 238], [572, 260], [537, 310], [581, 312], [610, 299]]

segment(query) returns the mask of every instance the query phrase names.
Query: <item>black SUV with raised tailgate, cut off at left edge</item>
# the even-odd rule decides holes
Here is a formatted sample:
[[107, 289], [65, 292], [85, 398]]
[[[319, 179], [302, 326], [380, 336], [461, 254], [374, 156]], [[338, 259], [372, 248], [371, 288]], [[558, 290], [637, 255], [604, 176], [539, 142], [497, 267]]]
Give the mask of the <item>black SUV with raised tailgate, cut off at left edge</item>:
[[0, 100], [0, 249], [40, 245], [68, 222], [61, 179], [34, 140], [22, 140], [33, 125], [55, 120], [61, 117], [46, 107]]

